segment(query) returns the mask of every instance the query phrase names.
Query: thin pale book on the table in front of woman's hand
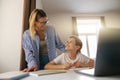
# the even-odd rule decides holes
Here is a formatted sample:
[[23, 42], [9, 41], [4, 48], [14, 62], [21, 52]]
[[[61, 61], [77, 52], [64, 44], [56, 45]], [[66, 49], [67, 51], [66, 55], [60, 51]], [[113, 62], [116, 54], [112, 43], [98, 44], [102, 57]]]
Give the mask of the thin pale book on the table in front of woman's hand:
[[39, 70], [34, 72], [29, 72], [29, 75], [32, 76], [41, 76], [41, 75], [50, 75], [50, 74], [58, 74], [58, 73], [66, 73], [67, 70]]

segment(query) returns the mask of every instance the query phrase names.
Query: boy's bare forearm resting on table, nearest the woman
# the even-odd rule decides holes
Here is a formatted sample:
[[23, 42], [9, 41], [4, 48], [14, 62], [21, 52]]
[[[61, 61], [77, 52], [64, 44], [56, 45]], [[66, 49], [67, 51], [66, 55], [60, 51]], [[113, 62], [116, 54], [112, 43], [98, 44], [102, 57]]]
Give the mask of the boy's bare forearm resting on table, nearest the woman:
[[69, 69], [71, 66], [72, 66], [71, 63], [56, 64], [54, 61], [51, 61], [45, 65], [44, 69], [52, 69], [52, 70]]

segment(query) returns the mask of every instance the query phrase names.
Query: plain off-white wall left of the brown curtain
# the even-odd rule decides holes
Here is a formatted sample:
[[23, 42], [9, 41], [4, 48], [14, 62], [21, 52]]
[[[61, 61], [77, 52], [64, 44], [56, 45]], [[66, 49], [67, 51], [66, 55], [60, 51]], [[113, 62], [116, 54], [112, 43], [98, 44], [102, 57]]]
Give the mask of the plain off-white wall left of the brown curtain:
[[0, 0], [0, 73], [19, 70], [23, 0]]

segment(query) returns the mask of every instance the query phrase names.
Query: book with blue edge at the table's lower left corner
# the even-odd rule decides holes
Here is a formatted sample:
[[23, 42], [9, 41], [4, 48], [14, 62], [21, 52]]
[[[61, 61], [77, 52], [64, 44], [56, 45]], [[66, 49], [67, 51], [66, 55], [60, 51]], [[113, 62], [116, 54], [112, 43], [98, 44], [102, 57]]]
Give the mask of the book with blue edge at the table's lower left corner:
[[19, 80], [20, 78], [28, 76], [28, 72], [10, 71], [0, 74], [0, 80]]

